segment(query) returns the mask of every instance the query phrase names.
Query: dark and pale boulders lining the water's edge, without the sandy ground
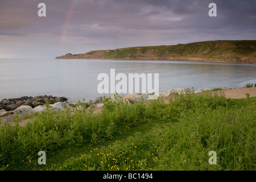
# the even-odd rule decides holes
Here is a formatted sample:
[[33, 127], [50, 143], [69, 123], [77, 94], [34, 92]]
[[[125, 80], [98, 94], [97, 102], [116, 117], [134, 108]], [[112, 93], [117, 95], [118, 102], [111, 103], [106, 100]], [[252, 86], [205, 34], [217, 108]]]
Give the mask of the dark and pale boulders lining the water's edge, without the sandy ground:
[[[203, 92], [209, 89], [200, 89], [197, 92]], [[176, 88], [170, 89], [167, 92], [159, 93], [158, 96], [154, 96], [154, 94], [126, 94], [125, 96], [119, 96], [123, 100], [126, 100], [129, 104], [133, 104], [136, 100], [139, 101], [143, 99], [144, 101], [154, 100], [157, 97], [170, 97], [175, 96], [180, 93], [184, 93], [185, 89]], [[110, 99], [114, 100], [114, 95], [110, 97]], [[94, 109], [94, 113], [97, 113], [102, 109], [104, 99], [103, 97], [97, 97], [94, 101], [89, 102], [80, 102], [80, 105], [85, 105], [89, 110], [90, 108]], [[23, 114], [31, 115], [36, 112], [41, 113], [44, 109], [46, 109], [46, 104], [49, 104], [55, 110], [64, 110], [65, 107], [69, 107], [71, 110], [75, 110], [75, 108], [79, 107], [78, 102], [68, 102], [67, 97], [53, 97], [53, 96], [23, 96], [20, 98], [5, 98], [0, 101], [0, 121], [1, 124], [11, 122], [15, 114], [18, 114], [18, 117], [22, 117]]]

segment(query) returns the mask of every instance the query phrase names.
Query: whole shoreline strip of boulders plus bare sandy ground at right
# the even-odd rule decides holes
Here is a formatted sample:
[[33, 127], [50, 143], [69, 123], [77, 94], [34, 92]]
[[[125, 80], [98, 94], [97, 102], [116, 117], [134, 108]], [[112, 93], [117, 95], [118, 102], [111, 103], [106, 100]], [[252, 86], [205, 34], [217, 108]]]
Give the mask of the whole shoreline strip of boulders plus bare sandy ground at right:
[[[170, 101], [170, 98], [173, 98], [176, 95], [179, 95], [181, 93], [185, 93], [186, 89], [183, 88], [176, 88], [176, 89], [170, 89], [167, 92], [159, 93], [158, 97], [163, 98], [164, 103], [168, 104]], [[194, 93], [202, 93], [202, 92], [213, 92], [217, 94], [222, 94], [224, 93], [226, 98], [246, 98], [246, 94], [249, 94], [249, 97], [256, 97], [256, 87], [251, 87], [251, 88], [217, 88], [217, 89], [199, 89], [197, 91], [193, 91]], [[143, 99], [144, 101], [151, 101], [155, 99], [150, 99], [151, 94], [126, 94], [124, 96], [117, 95], [118, 98], [122, 98], [123, 100], [126, 100], [129, 104], [133, 104], [135, 100], [140, 100]], [[157, 97], [157, 98], [158, 98]], [[18, 117], [22, 117], [23, 114], [26, 115], [33, 115], [37, 112], [42, 113], [46, 109], [46, 103], [39, 103], [39, 101], [46, 101], [46, 98], [55, 98], [55, 102], [53, 100], [49, 100], [52, 102], [47, 102], [49, 106], [53, 107], [54, 110], [65, 110], [66, 107], [71, 109], [72, 112], [75, 112], [75, 109], [79, 109], [79, 107], [85, 106], [86, 111], [88, 111], [90, 108], [93, 109], [93, 113], [98, 113], [102, 110], [103, 102], [104, 99], [103, 97], [97, 97], [95, 100], [90, 100], [89, 102], [85, 101], [77, 101], [77, 102], [68, 102], [68, 98], [66, 97], [52, 97], [52, 96], [35, 96], [35, 97], [28, 97], [28, 96], [23, 96], [20, 97], [21, 100], [23, 99], [23, 104], [20, 106], [13, 107], [13, 100], [15, 98], [10, 98], [10, 99], [3, 99], [0, 101], [0, 106], [3, 106], [4, 104], [8, 104], [5, 107], [8, 109], [1, 109], [0, 107], [0, 126], [5, 123], [13, 123], [13, 119], [15, 118], [15, 115], [18, 114]], [[19, 98], [19, 99], [20, 99]], [[26, 100], [27, 98], [27, 100]], [[18, 99], [18, 98], [16, 98]], [[110, 96], [111, 100], [114, 100], [114, 95]], [[10, 101], [11, 100], [11, 101]], [[20, 100], [20, 101], [21, 101]], [[32, 102], [30, 102], [33, 100]], [[17, 101], [17, 102], [20, 102]], [[80, 103], [80, 105], [79, 105]], [[32, 105], [31, 105], [32, 104]], [[34, 106], [33, 106], [34, 105]], [[35, 106], [37, 105], [37, 106]], [[31, 119], [28, 119], [28, 121], [31, 121]], [[28, 122], [26, 119], [20, 123], [21, 125], [24, 124], [24, 122]]]

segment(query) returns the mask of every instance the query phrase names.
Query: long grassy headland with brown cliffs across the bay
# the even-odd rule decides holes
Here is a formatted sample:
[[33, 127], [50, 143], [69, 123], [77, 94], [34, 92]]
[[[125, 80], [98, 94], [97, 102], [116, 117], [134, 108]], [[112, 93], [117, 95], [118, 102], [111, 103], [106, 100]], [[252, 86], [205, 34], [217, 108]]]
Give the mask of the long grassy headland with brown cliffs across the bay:
[[129, 47], [68, 53], [56, 59], [205, 60], [256, 63], [256, 40], [223, 40], [174, 46]]

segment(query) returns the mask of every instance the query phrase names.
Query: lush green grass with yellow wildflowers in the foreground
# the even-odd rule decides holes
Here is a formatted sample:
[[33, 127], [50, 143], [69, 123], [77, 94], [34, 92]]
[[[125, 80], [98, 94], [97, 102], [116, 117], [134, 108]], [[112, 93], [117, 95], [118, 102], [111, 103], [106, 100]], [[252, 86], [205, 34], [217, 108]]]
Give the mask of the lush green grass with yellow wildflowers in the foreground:
[[[189, 92], [170, 104], [106, 98], [98, 114], [47, 106], [25, 127], [1, 126], [1, 169], [255, 170], [255, 102]], [[46, 165], [38, 164], [40, 150]]]

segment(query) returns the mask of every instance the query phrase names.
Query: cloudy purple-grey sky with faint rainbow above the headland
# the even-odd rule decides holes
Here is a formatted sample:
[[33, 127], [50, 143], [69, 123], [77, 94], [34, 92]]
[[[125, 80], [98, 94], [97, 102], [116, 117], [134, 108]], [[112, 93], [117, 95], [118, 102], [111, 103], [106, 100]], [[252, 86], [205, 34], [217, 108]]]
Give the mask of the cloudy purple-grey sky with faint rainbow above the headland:
[[[45, 3], [46, 16], [38, 16]], [[217, 16], [210, 17], [210, 3]], [[255, 0], [0, 0], [0, 58], [256, 40]]]

